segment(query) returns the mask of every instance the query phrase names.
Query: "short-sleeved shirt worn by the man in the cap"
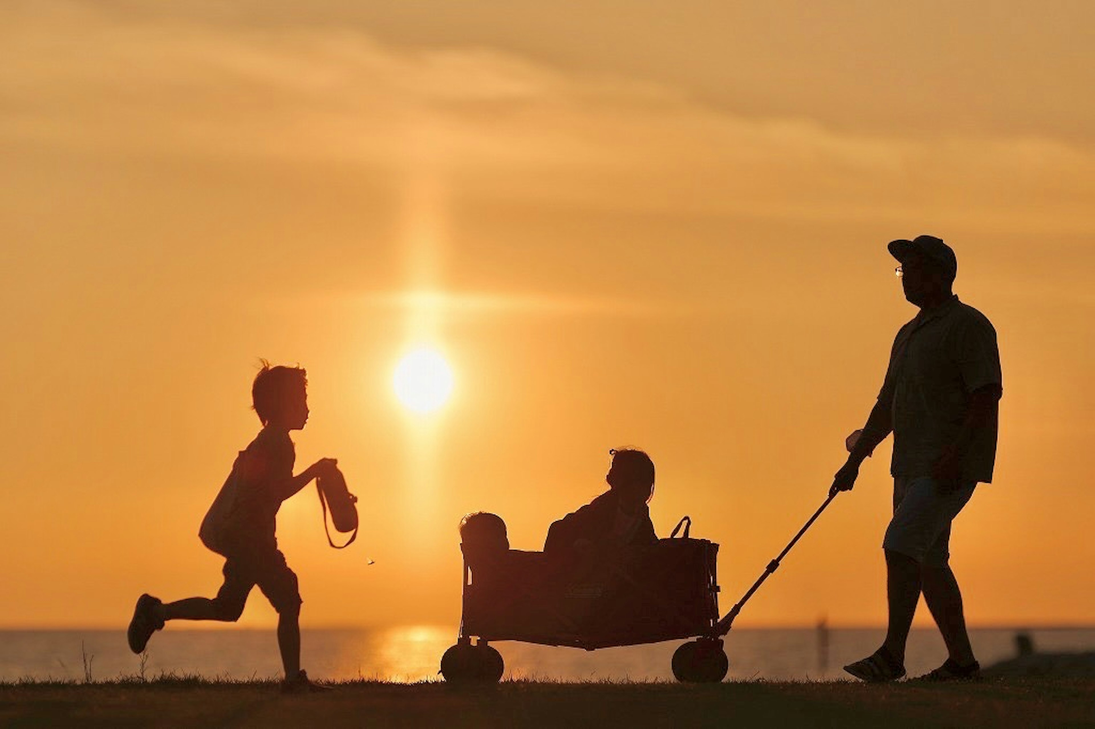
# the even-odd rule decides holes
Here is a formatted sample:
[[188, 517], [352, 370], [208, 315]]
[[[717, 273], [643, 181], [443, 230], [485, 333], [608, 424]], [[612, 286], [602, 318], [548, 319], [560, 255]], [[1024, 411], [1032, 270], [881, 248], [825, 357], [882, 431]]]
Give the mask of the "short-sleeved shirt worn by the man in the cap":
[[[952, 297], [921, 311], [894, 340], [878, 400], [890, 405], [894, 476], [929, 476], [954, 443], [970, 393], [1002, 387], [996, 332], [972, 306]], [[973, 433], [963, 460], [963, 481], [989, 483], [996, 458], [998, 417]]]

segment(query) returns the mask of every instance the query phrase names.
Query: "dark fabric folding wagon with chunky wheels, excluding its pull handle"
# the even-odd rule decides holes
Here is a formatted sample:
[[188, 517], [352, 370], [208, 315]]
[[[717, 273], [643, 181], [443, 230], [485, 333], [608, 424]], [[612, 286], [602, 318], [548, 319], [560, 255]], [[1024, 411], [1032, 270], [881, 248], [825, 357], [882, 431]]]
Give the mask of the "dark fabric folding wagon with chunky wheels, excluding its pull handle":
[[441, 659], [446, 681], [498, 681], [505, 667], [489, 645], [496, 640], [596, 650], [681, 638], [696, 640], [673, 653], [673, 675], [722, 681], [718, 545], [691, 539], [690, 526], [685, 517], [670, 539], [589, 557], [509, 549], [470, 558], [464, 551], [463, 614], [457, 645]]

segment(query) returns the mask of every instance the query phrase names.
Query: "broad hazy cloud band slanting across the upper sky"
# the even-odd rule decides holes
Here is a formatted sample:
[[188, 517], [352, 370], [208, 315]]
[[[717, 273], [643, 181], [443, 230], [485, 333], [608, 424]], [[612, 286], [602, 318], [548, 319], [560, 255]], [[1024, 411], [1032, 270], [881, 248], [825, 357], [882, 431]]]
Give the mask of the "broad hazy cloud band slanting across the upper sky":
[[840, 132], [642, 79], [482, 46], [390, 46], [355, 26], [9, 18], [9, 148], [350, 164], [463, 195], [622, 210], [1095, 231], [1095, 153], [1039, 136]]

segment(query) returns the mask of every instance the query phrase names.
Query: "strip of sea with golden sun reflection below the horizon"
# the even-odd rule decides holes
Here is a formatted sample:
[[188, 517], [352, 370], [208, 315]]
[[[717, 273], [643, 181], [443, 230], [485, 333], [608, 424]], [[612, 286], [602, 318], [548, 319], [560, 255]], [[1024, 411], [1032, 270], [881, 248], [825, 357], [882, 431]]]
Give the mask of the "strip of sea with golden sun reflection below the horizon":
[[[1018, 628], [970, 630], [982, 666], [1015, 656]], [[1095, 650], [1095, 628], [1024, 629], [1046, 652]], [[453, 626], [383, 629], [304, 629], [301, 664], [313, 679], [384, 681], [439, 680], [445, 650], [456, 643]], [[872, 652], [881, 628], [735, 628], [726, 639], [731, 680], [846, 678], [841, 667]], [[495, 645], [507, 678], [560, 681], [672, 680], [670, 659], [683, 641], [584, 651], [521, 643]], [[909, 639], [910, 675], [946, 658], [938, 633], [918, 628]], [[141, 660], [129, 652], [122, 630], [0, 630], [0, 681], [105, 681], [139, 675]], [[281, 663], [273, 630], [175, 629], [157, 633], [143, 666], [146, 678], [199, 674], [237, 680], [279, 678]]]

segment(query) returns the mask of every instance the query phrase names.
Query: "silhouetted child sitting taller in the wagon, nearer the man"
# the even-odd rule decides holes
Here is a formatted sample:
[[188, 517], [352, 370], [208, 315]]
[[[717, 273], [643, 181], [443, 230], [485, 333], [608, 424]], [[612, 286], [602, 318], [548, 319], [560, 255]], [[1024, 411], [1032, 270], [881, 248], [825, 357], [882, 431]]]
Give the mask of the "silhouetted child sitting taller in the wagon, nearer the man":
[[611, 450], [609, 490], [552, 523], [544, 542], [550, 554], [590, 548], [654, 544], [658, 541], [647, 506], [654, 496], [654, 462], [634, 449]]

